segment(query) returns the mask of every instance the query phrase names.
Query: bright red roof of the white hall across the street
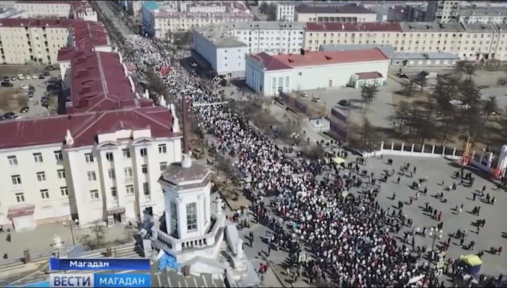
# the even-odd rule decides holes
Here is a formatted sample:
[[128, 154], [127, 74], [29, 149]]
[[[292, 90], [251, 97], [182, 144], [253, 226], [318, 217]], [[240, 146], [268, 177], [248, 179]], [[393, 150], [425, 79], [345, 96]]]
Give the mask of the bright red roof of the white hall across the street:
[[384, 53], [378, 48], [344, 51], [305, 51], [304, 54], [291, 53], [279, 55], [268, 55], [263, 52], [253, 56], [253, 58], [261, 62], [266, 71], [306, 66], [388, 60]]

